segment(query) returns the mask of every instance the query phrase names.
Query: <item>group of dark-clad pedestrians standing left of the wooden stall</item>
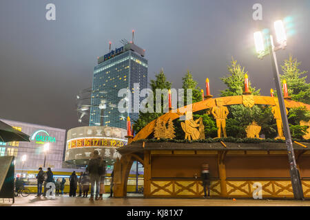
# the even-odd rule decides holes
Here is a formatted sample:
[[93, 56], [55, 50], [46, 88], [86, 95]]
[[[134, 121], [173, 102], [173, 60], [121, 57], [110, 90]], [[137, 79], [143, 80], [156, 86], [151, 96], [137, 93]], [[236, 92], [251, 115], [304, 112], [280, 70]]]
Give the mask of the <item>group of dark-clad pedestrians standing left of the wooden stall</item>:
[[[86, 198], [90, 190], [90, 201], [102, 200], [103, 194], [105, 193], [105, 160], [103, 157], [99, 156], [99, 151], [94, 151], [92, 157], [90, 158], [87, 167], [84, 172], [80, 173], [79, 177], [76, 175], [76, 172], [73, 171], [69, 178], [70, 185], [70, 197], [76, 197], [76, 190], [79, 186], [79, 195], [78, 197]], [[113, 178], [114, 171], [112, 172], [112, 180], [110, 184], [110, 197], [113, 193]], [[48, 188], [46, 187], [48, 183], [52, 182], [55, 185], [55, 195], [63, 195], [63, 190], [65, 188], [65, 178], [56, 180], [53, 177], [51, 168], [48, 168], [46, 172], [40, 167], [37, 174], [37, 196], [41, 197], [42, 195], [46, 197], [46, 192]], [[42, 188], [44, 186], [44, 192]], [[82, 195], [83, 194], [83, 195]]]

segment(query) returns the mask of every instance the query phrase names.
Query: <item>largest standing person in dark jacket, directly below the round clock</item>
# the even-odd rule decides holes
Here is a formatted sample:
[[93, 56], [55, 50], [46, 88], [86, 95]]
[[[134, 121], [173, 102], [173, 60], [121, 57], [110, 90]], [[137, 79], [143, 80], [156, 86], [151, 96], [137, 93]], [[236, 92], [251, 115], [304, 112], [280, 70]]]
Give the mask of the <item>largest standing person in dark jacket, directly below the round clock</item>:
[[101, 175], [99, 175], [99, 167], [101, 166], [101, 157], [99, 156], [98, 151], [94, 151], [90, 161], [87, 165], [87, 170], [90, 173], [90, 201], [94, 201], [94, 186], [96, 185], [96, 200], [99, 198], [100, 191], [100, 179]]

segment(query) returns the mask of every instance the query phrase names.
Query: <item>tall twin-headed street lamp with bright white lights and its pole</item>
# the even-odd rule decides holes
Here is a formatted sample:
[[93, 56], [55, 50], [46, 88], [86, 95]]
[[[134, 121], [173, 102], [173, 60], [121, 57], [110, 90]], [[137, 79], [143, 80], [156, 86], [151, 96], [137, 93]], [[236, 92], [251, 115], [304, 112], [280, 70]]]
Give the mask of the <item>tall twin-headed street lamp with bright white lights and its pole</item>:
[[278, 92], [278, 102], [280, 107], [280, 113], [283, 123], [283, 131], [285, 134], [285, 143], [287, 145], [287, 155], [289, 157], [289, 173], [291, 175], [291, 185], [293, 188], [293, 195], [295, 199], [302, 200], [304, 198], [302, 183], [300, 181], [300, 173], [297, 168], [295, 154], [293, 150], [293, 143], [291, 141], [291, 132], [289, 131], [289, 121], [287, 120], [287, 113], [285, 108], [285, 100], [283, 98], [283, 93], [281, 89], [278, 62], [276, 58], [276, 50], [284, 49], [287, 45], [287, 38], [285, 34], [285, 28], [282, 21], [276, 21], [274, 23], [274, 28], [276, 30], [277, 41], [280, 46], [275, 47], [273, 43], [273, 36], [270, 35], [268, 39], [268, 50], [265, 50], [265, 44], [262, 38], [262, 32], [254, 33], [254, 39], [256, 44], [256, 51], [259, 54], [259, 58], [270, 54], [271, 65], [273, 70], [273, 78], [275, 80], [276, 89]]

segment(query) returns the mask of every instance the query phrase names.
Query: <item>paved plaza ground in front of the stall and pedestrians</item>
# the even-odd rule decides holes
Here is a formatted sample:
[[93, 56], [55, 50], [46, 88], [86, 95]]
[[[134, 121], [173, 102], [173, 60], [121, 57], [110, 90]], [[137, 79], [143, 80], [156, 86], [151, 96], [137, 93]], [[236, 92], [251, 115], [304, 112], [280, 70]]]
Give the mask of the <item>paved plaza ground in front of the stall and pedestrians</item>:
[[310, 206], [310, 200], [269, 200], [269, 199], [143, 199], [141, 195], [129, 195], [127, 198], [108, 198], [104, 195], [101, 201], [90, 201], [88, 198], [62, 195], [55, 199], [44, 197], [16, 197], [0, 199], [0, 206]]

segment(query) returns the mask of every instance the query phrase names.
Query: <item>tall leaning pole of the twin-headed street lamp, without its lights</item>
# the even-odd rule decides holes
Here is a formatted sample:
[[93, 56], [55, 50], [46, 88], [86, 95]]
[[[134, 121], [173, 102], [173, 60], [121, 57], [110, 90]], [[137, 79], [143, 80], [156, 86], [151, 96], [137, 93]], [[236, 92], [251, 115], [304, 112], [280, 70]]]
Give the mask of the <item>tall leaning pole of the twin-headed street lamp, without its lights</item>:
[[276, 58], [276, 52], [273, 48], [273, 39], [270, 36], [269, 39], [269, 52], [271, 55], [271, 64], [273, 69], [273, 77], [276, 83], [276, 89], [278, 94], [278, 101], [280, 107], [280, 113], [283, 123], [283, 132], [285, 135], [285, 143], [287, 144], [287, 155], [289, 156], [289, 173], [291, 175], [291, 186], [293, 188], [293, 195], [295, 199], [302, 200], [304, 199], [303, 191], [302, 191], [302, 183], [300, 181], [300, 174], [297, 168], [293, 143], [291, 142], [291, 132], [289, 131], [289, 121], [287, 120], [287, 110], [285, 108], [285, 100], [283, 98], [278, 62]]

